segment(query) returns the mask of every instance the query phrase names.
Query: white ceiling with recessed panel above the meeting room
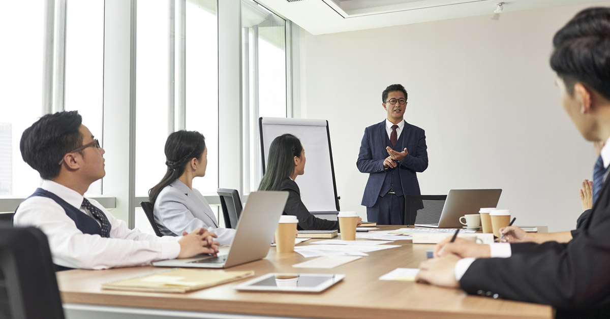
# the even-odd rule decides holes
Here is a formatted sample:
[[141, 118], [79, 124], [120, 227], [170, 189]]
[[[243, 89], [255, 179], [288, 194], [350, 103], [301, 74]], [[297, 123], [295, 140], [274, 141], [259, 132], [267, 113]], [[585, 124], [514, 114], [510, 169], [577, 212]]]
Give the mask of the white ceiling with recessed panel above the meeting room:
[[[590, 3], [592, 0], [257, 0], [314, 35]], [[500, 13], [502, 14], [502, 13]]]

